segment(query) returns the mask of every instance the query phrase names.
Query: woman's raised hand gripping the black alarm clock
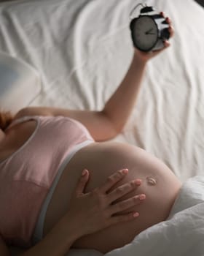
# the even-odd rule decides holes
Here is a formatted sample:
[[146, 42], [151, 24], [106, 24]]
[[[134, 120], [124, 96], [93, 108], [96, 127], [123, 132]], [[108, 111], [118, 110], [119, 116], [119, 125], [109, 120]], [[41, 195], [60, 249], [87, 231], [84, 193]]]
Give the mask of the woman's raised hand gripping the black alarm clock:
[[[160, 12], [160, 14], [165, 18], [165, 12]], [[171, 38], [171, 37], [173, 37], [173, 34], [174, 34], [172, 21], [170, 20], [169, 17], [166, 17], [165, 20], [169, 24], [168, 31], [170, 32], [170, 38]], [[166, 48], [168, 48], [170, 46], [170, 42], [168, 40], [165, 40], [163, 43], [164, 43], [164, 48], [162, 48], [161, 50], [150, 51], [148, 53], [145, 53], [145, 52], [135, 48], [135, 58], [142, 62], [149, 61], [149, 59], [154, 58], [155, 56], [157, 56], [159, 53], [161, 53], [163, 50], [165, 50]]]

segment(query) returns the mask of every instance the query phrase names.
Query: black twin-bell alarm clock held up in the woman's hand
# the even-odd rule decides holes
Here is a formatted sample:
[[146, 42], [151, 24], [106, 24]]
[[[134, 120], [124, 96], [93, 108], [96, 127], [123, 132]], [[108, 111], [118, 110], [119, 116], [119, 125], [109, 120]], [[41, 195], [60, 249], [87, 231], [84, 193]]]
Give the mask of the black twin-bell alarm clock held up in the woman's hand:
[[133, 45], [144, 52], [160, 50], [164, 48], [163, 41], [170, 38], [169, 24], [154, 7], [141, 5], [140, 15], [130, 22]]

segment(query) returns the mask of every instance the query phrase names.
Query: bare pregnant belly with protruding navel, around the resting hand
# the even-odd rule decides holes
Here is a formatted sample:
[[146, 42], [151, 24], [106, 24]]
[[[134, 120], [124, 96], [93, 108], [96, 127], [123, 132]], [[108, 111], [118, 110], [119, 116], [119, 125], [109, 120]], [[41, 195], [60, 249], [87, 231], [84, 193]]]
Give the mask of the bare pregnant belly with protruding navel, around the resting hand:
[[117, 142], [90, 144], [68, 162], [47, 208], [44, 235], [68, 211], [68, 201], [84, 168], [90, 171], [86, 192], [100, 187], [116, 170], [128, 168], [127, 176], [115, 187], [141, 178], [142, 184], [136, 192], [130, 192], [122, 199], [144, 193], [146, 200], [128, 210], [138, 211], [138, 218], [79, 238], [73, 244], [74, 248], [97, 249], [105, 253], [130, 243], [138, 233], [168, 217], [181, 187], [180, 181], [164, 163], [141, 148]]

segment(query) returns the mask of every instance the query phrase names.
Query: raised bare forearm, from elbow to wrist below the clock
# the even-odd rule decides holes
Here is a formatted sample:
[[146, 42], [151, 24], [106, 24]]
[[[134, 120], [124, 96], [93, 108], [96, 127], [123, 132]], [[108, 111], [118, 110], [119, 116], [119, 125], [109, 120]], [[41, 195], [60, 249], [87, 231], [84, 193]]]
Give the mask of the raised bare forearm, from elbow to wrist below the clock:
[[125, 78], [103, 108], [117, 132], [122, 131], [136, 104], [145, 67], [146, 62], [139, 60], [134, 54]]

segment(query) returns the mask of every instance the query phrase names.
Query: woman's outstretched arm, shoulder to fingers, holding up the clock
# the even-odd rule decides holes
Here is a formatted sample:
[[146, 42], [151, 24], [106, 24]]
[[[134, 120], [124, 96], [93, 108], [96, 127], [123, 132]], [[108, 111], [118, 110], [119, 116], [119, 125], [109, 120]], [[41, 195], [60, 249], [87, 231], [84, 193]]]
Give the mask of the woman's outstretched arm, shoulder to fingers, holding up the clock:
[[[171, 26], [170, 19], [167, 18], [166, 20], [170, 24], [169, 31], [170, 37], [172, 37], [173, 27]], [[168, 41], [164, 42], [164, 44], [165, 48], [168, 48], [170, 45]], [[125, 78], [100, 111], [30, 107], [20, 110], [15, 118], [31, 115], [68, 116], [84, 124], [96, 141], [110, 140], [118, 135], [119, 132], [122, 132], [127, 119], [132, 113], [141, 88], [141, 80], [144, 76], [146, 62], [152, 59], [152, 57], [157, 56], [164, 49], [153, 53], [142, 53], [135, 49]]]

